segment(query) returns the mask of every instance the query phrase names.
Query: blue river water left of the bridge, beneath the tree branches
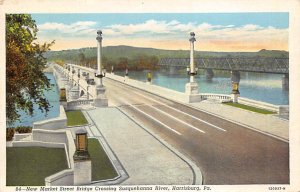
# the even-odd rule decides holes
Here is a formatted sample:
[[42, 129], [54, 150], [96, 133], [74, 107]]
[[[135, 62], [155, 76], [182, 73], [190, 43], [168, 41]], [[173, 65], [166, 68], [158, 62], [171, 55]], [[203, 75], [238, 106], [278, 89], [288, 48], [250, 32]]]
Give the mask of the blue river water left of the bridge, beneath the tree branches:
[[41, 111], [38, 109], [38, 105], [34, 105], [34, 112], [33, 116], [27, 115], [25, 112], [20, 111], [19, 114], [20, 122], [15, 122], [11, 127], [16, 126], [32, 126], [32, 123], [35, 121], [40, 121], [44, 119], [50, 119], [54, 117], [58, 117], [59, 115], [59, 94], [58, 94], [58, 88], [55, 81], [55, 78], [52, 73], [45, 73], [48, 79], [50, 79], [50, 83], [53, 85], [50, 90], [44, 91], [45, 97], [48, 99], [50, 105], [52, 106], [50, 108], [50, 111], [45, 114], [41, 113]]

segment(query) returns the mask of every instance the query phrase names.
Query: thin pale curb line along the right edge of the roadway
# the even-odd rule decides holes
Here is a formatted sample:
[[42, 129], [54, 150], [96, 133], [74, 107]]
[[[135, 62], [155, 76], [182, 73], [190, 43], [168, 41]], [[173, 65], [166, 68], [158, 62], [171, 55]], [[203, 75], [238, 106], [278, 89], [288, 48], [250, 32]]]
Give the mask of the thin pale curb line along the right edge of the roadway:
[[[125, 86], [130, 87], [130, 88], [133, 88], [133, 89], [142, 90], [142, 89], [139, 89], [139, 88], [136, 88], [136, 87], [133, 87], [133, 86], [129, 86], [128, 84], [123, 83], [123, 82], [119, 82], [119, 81], [116, 81], [116, 80], [113, 80], [113, 79], [109, 79], [109, 80], [110, 80], [110, 81], [113, 81], [113, 82], [117, 82], [117, 83], [122, 83], [122, 84], [124, 84]], [[212, 115], [212, 116], [218, 117], [218, 118], [223, 119], [223, 120], [225, 120], [225, 121], [228, 121], [228, 122], [231, 122], [231, 123], [240, 125], [240, 126], [246, 128], [246, 129], [250, 129], [250, 130], [252, 130], [252, 131], [256, 131], [256, 132], [259, 132], [259, 133], [261, 133], [261, 134], [267, 135], [267, 136], [269, 136], [269, 137], [272, 137], [272, 138], [278, 139], [278, 140], [280, 140], [280, 141], [289, 143], [289, 139], [285, 139], [285, 138], [282, 138], [282, 137], [277, 136], [277, 135], [275, 135], [275, 134], [268, 133], [268, 132], [265, 132], [265, 131], [261, 131], [261, 130], [259, 130], [259, 129], [257, 129], [257, 128], [254, 128], [254, 127], [251, 127], [251, 126], [249, 126], [249, 125], [240, 123], [240, 122], [238, 122], [238, 121], [234, 121], [234, 120], [231, 120], [231, 119], [227, 119], [227, 118], [222, 117], [222, 116], [220, 116], [220, 115], [218, 115], [218, 114], [215, 114], [215, 113], [212, 113], [212, 112], [209, 112], [209, 111], [200, 109], [200, 108], [195, 107], [195, 106], [192, 106], [192, 105], [189, 104], [189, 103], [184, 103], [184, 102], [172, 100], [172, 99], [170, 99], [170, 98], [166, 98], [166, 97], [163, 97], [163, 96], [159, 96], [159, 95], [156, 95], [156, 94], [151, 93], [151, 92], [146, 91], [146, 90], [142, 90], [142, 91], [144, 91], [144, 92], [146, 92], [146, 93], [148, 93], [148, 94], [152, 94], [152, 95], [154, 95], [154, 96], [156, 96], [156, 97], [161, 97], [161, 98], [163, 98], [163, 99], [166, 99], [166, 100], [169, 100], [169, 101], [172, 101], [172, 102], [175, 102], [175, 103], [184, 105], [184, 106], [186, 106], [186, 107], [191, 107], [191, 108], [193, 108], [193, 109], [195, 109], [195, 110], [202, 111], [202, 112], [204, 112], [204, 113], [207, 113], [207, 114], [210, 114], [210, 115]]]

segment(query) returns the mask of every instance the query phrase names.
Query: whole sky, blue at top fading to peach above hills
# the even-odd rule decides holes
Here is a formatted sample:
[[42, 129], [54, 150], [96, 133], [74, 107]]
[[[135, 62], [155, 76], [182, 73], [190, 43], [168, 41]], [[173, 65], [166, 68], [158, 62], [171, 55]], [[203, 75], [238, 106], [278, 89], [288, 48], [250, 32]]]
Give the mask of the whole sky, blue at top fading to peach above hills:
[[188, 50], [196, 34], [199, 51], [288, 51], [289, 15], [270, 13], [95, 13], [32, 14], [39, 42], [55, 40], [52, 50], [129, 45]]

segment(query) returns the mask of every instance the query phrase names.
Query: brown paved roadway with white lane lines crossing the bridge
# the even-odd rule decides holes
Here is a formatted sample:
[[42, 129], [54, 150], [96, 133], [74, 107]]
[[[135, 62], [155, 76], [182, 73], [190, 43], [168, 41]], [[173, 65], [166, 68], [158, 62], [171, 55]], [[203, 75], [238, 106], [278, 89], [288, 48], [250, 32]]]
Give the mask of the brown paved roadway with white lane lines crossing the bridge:
[[288, 143], [107, 78], [104, 85], [109, 105], [192, 159], [204, 184], [289, 183]]

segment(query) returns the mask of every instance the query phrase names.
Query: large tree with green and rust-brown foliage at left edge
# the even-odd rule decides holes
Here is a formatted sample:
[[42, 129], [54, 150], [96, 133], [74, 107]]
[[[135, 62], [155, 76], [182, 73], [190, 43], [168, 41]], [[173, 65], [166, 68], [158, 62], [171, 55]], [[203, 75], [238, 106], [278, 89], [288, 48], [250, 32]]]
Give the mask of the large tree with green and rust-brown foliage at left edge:
[[43, 69], [50, 44], [35, 42], [37, 26], [28, 14], [6, 15], [6, 117], [8, 124], [19, 120], [19, 110], [32, 115], [34, 104], [41, 112], [51, 107], [44, 96], [50, 83]]

